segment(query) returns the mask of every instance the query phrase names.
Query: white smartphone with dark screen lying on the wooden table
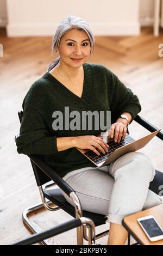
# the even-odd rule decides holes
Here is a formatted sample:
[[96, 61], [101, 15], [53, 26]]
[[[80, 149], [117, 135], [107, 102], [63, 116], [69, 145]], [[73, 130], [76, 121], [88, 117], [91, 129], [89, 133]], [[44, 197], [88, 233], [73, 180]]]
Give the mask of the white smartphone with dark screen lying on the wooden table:
[[163, 230], [152, 215], [137, 218], [137, 221], [152, 242], [163, 239]]

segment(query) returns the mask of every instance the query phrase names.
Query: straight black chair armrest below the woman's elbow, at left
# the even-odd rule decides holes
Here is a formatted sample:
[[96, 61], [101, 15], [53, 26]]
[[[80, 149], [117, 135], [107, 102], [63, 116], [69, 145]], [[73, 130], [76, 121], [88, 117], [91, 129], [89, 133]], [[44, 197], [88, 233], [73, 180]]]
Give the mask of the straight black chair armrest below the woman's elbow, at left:
[[67, 196], [70, 196], [71, 192], [75, 192], [72, 187], [70, 187], [66, 181], [64, 181], [57, 173], [54, 172], [54, 170], [48, 166], [48, 164], [41, 160], [39, 156], [37, 155], [28, 155], [30, 160], [32, 160], [36, 166], [38, 166], [42, 172], [44, 172], [51, 180], [57, 184], [61, 190], [63, 190]]

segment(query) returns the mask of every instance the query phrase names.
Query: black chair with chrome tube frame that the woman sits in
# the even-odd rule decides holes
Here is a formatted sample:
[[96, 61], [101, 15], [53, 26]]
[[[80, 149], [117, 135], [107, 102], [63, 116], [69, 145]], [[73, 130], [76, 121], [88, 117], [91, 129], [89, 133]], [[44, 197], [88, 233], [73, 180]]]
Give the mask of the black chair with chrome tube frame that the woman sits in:
[[[18, 112], [18, 117], [20, 119], [20, 122], [22, 120], [22, 115], [23, 115], [22, 111]], [[137, 115], [137, 117], [134, 120], [151, 132], [158, 130], [154, 125], [148, 123], [148, 121], [146, 121], [139, 115]], [[160, 131], [156, 136], [161, 140], [163, 140], [162, 131]], [[16, 141], [16, 137], [15, 137], [15, 141]], [[33, 206], [30, 206], [26, 210], [24, 210], [22, 217], [23, 217], [23, 222], [27, 224], [28, 227], [34, 233], [37, 233], [37, 230], [33, 226], [32, 222], [30, 222], [28, 218], [28, 214], [30, 212], [33, 212], [33, 211], [36, 211], [37, 209], [42, 208], [43, 206], [46, 209], [51, 211], [62, 209], [66, 211], [68, 214], [70, 214], [71, 216], [73, 216], [74, 218], [80, 218], [80, 217], [91, 218], [91, 220], [95, 223], [96, 227], [99, 225], [105, 224], [106, 217], [104, 215], [95, 214], [93, 212], [82, 210], [82, 206], [80, 204], [78, 196], [76, 195], [76, 192], [62, 178], [60, 178], [60, 176], [57, 173], [55, 173], [55, 171], [50, 166], [48, 166], [45, 163], [42, 155], [28, 155], [28, 157], [30, 158], [30, 161], [32, 163], [32, 167], [34, 170], [37, 186], [39, 187], [42, 203], [35, 204]], [[54, 185], [54, 184], [46, 185], [48, 181], [53, 181], [55, 185], [59, 186], [59, 188], [46, 190], [46, 188], [49, 188], [49, 186]], [[163, 184], [163, 173], [156, 170], [156, 175], [154, 177], [154, 180], [150, 183], [149, 189], [155, 192], [156, 194], [159, 194], [160, 192], [159, 187], [162, 184]], [[61, 190], [64, 191], [69, 197], [72, 198], [74, 202], [74, 207], [66, 201], [65, 197], [61, 193]], [[47, 202], [46, 199], [48, 199], [49, 201]], [[56, 206], [52, 208], [49, 205], [49, 202], [54, 203]], [[109, 230], [103, 231], [102, 233], [96, 235], [96, 239], [99, 239], [100, 237], [108, 235], [108, 233], [109, 233]], [[87, 236], [86, 225], [83, 225], [83, 227], [77, 228], [77, 245], [83, 245], [83, 238], [86, 241], [89, 240]], [[45, 240], [42, 241], [42, 243], [47, 245], [47, 242]]]

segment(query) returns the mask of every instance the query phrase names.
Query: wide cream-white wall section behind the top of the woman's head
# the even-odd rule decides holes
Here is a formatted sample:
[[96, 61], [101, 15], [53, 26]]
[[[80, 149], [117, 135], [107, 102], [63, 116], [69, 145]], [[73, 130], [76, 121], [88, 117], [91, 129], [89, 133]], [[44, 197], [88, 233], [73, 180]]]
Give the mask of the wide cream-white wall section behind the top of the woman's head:
[[53, 35], [72, 14], [91, 23], [95, 35], [137, 35], [139, 0], [7, 0], [8, 36]]

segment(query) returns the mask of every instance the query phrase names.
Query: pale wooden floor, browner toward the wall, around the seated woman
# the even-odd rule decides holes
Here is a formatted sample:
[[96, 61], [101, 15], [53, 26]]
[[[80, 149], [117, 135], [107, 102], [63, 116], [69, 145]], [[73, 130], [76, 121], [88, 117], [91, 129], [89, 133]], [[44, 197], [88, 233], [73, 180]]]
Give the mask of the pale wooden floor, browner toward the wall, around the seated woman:
[[[14, 137], [20, 129], [17, 112], [32, 83], [46, 71], [51, 55], [52, 37], [7, 38], [0, 30], [4, 54], [0, 58], [0, 244], [7, 245], [29, 234], [21, 219], [28, 206], [40, 202], [39, 191], [30, 161], [18, 154]], [[139, 97], [140, 115], [162, 129], [163, 127], [163, 57], [158, 56], [158, 45], [163, 43], [163, 31], [154, 37], [151, 28], [142, 29], [140, 36], [96, 36], [96, 48], [90, 63], [105, 65]], [[139, 138], [149, 132], [135, 121], [129, 126], [130, 134]], [[156, 169], [163, 170], [163, 143], [153, 138], [140, 150], [148, 155]], [[42, 211], [32, 216], [41, 228], [71, 220], [62, 210]], [[104, 228], [107, 228], [105, 225]], [[98, 228], [102, 230], [102, 227]], [[105, 245], [108, 237], [99, 240]], [[55, 245], [76, 243], [76, 231], [67, 231], [50, 240]]]

